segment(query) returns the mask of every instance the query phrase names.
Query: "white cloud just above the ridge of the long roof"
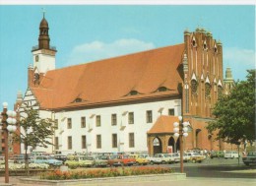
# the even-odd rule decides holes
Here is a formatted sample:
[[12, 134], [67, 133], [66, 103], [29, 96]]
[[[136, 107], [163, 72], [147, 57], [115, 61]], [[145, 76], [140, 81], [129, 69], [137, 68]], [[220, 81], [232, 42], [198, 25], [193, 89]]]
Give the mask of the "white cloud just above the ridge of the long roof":
[[135, 38], [122, 38], [110, 43], [96, 40], [76, 46], [68, 57], [68, 65], [81, 64], [153, 48], [155, 48], [154, 43]]

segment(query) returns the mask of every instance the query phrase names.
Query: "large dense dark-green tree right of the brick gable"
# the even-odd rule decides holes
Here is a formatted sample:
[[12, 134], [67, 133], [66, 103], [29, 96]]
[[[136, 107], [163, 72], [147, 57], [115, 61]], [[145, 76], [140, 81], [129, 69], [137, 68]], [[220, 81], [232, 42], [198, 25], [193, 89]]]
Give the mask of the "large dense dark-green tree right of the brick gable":
[[235, 83], [228, 95], [217, 101], [213, 114], [216, 119], [207, 129], [217, 132], [217, 139], [237, 144], [255, 141], [255, 70], [248, 70], [247, 80]]

